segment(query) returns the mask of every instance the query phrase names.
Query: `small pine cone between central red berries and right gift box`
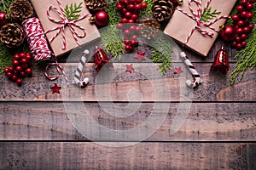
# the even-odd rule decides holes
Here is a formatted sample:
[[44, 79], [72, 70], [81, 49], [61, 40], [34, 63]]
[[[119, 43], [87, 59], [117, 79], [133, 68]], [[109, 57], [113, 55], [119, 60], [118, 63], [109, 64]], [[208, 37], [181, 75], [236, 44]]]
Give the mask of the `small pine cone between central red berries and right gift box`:
[[141, 35], [147, 40], [151, 40], [156, 37], [157, 32], [155, 29], [160, 29], [160, 23], [155, 19], [143, 20], [143, 26], [141, 26]]

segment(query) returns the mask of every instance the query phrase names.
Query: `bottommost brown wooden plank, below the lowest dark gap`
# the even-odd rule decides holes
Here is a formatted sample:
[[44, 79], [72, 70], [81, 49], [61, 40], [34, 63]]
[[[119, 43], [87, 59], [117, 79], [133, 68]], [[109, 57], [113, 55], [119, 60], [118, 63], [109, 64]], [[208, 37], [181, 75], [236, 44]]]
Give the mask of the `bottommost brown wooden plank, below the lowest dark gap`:
[[[0, 169], [255, 169], [255, 144], [0, 143]], [[114, 144], [114, 143], [113, 143]], [[209, 154], [210, 153], [210, 154]]]

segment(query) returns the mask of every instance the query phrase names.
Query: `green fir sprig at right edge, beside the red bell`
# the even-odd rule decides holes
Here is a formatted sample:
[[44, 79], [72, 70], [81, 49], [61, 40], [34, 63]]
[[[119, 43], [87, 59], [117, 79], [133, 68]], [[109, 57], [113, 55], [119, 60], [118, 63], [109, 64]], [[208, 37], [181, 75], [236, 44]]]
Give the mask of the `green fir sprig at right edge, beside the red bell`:
[[243, 78], [244, 72], [247, 71], [247, 68], [253, 70], [256, 66], [256, 29], [250, 33], [249, 38], [247, 39], [246, 48], [241, 49], [235, 55], [235, 59], [239, 58], [236, 62], [236, 69], [232, 71], [230, 84], [233, 85], [236, 82], [236, 78], [240, 76], [241, 80]]

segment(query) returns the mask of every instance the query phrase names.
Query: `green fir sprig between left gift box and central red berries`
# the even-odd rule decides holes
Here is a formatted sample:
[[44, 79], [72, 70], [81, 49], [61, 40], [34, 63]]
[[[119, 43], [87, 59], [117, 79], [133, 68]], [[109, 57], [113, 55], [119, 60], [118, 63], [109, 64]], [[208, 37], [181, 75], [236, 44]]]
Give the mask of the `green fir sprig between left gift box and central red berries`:
[[108, 54], [111, 53], [114, 59], [121, 59], [121, 54], [125, 54], [125, 49], [120, 37], [121, 34], [116, 26], [113, 25], [103, 28], [101, 35], [102, 48], [104, 48]]

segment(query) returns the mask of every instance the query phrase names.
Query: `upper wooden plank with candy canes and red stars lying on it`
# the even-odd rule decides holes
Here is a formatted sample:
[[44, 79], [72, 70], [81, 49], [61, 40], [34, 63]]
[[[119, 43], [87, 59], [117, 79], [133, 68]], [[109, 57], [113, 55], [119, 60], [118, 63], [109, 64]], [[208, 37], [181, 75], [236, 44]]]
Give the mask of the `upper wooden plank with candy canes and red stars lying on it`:
[[[65, 96], [51, 94], [49, 87], [53, 86], [55, 82], [46, 80], [44, 71], [40, 68], [35, 69], [32, 78], [25, 79], [21, 87], [22, 90], [16, 83], [1, 77], [0, 100], [128, 101], [127, 93], [133, 90], [131, 94], [135, 96], [131, 96], [130, 101], [182, 101], [181, 96], [185, 94], [193, 94], [189, 98], [193, 101], [255, 101], [255, 88], [253, 88], [256, 80], [255, 70], [246, 71], [241, 82], [236, 82], [235, 86], [230, 86], [230, 71], [227, 75], [219, 72], [209, 73], [210, 64], [197, 63], [195, 67], [201, 74], [203, 84], [200, 88], [192, 91], [186, 87], [185, 81], [187, 79], [192, 81], [193, 78], [183, 63], [173, 65], [172, 71], [165, 77], [160, 75], [160, 72], [157, 71], [158, 65], [155, 64], [134, 63], [135, 72], [132, 74], [125, 71], [125, 65], [115, 63], [113, 69], [106, 69], [97, 75], [94, 64], [87, 64], [83, 77], [89, 77], [90, 84], [82, 90], [73, 86], [65, 88], [65, 80], [61, 77], [55, 82], [62, 86], [61, 94], [65, 94]], [[73, 79], [76, 66], [77, 64], [65, 65], [65, 71], [70, 80]], [[179, 66], [183, 69], [180, 76], [173, 73], [174, 68]], [[234, 66], [230, 65], [231, 69], [234, 69]], [[54, 69], [49, 72], [52, 74]], [[96, 91], [102, 95], [96, 96]], [[156, 94], [159, 98], [155, 96]]]

